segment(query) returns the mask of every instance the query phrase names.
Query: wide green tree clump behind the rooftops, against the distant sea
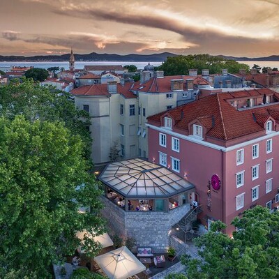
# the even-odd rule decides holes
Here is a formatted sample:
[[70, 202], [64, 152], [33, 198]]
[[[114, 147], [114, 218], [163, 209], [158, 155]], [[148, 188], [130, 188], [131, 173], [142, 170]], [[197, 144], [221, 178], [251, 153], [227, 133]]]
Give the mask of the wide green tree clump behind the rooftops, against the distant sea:
[[198, 74], [202, 73], [202, 69], [209, 69], [209, 73], [215, 74], [221, 73], [223, 68], [229, 73], [239, 73], [240, 69], [249, 70], [246, 64], [209, 54], [167, 57], [158, 70], [163, 70], [165, 75], [188, 75], [190, 69], [197, 69]]

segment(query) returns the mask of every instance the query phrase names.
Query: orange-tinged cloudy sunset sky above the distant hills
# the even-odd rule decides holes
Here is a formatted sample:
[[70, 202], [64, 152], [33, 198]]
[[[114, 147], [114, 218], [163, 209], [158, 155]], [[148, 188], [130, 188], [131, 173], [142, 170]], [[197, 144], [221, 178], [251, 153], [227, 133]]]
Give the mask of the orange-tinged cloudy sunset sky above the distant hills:
[[0, 0], [0, 55], [279, 54], [279, 0]]

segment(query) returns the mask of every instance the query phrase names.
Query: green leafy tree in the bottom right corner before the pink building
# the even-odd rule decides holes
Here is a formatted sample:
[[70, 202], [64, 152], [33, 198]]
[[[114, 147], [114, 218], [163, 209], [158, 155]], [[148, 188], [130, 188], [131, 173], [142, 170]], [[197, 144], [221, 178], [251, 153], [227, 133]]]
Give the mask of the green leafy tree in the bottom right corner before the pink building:
[[256, 206], [235, 218], [233, 238], [216, 221], [208, 234], [195, 240], [200, 259], [183, 258], [188, 278], [278, 278], [279, 212]]

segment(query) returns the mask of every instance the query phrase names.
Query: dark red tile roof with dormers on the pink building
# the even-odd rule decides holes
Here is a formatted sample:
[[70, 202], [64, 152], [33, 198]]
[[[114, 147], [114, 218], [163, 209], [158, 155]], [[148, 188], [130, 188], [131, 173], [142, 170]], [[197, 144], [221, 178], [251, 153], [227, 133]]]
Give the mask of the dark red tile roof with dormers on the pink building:
[[[278, 94], [270, 89], [257, 89], [260, 95], [267, 92], [273, 92], [274, 96]], [[160, 116], [168, 113], [174, 119], [179, 118], [175, 120], [174, 128], [188, 130], [188, 124], [197, 120], [207, 129], [206, 136], [220, 140], [232, 140], [262, 131], [264, 129], [262, 121], [268, 119], [271, 114], [279, 123], [279, 102], [268, 106], [252, 107], [248, 110], [237, 110], [227, 101], [234, 98], [234, 95], [238, 96], [237, 98], [239, 96], [249, 98], [251, 93], [253, 94], [251, 91], [216, 93], [168, 112], [149, 116], [148, 121], [160, 123]]]

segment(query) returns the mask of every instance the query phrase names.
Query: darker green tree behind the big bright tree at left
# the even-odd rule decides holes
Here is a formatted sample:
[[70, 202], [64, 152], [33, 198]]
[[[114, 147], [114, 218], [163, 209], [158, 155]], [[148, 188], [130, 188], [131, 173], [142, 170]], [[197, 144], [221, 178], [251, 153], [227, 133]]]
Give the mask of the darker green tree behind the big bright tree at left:
[[0, 116], [9, 119], [22, 114], [29, 121], [63, 121], [73, 135], [82, 137], [84, 156], [90, 158], [91, 137], [86, 128], [90, 125], [90, 117], [84, 110], [77, 110], [69, 93], [23, 78], [22, 83], [10, 82], [0, 87], [0, 105]]

